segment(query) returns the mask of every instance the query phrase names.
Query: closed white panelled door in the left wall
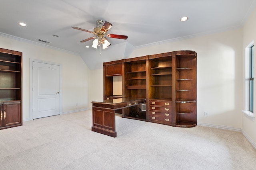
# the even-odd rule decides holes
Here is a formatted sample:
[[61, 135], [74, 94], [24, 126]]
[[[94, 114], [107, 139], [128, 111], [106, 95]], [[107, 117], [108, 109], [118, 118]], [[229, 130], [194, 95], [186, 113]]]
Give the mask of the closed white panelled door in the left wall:
[[60, 114], [60, 66], [33, 61], [33, 119]]

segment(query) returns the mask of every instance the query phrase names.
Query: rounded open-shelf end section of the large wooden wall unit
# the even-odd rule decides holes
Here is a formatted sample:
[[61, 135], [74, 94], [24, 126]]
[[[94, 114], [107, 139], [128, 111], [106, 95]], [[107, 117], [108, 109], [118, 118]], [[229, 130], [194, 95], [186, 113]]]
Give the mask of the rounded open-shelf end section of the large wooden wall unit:
[[196, 52], [176, 51], [174, 63], [175, 121], [178, 127], [196, 126]]

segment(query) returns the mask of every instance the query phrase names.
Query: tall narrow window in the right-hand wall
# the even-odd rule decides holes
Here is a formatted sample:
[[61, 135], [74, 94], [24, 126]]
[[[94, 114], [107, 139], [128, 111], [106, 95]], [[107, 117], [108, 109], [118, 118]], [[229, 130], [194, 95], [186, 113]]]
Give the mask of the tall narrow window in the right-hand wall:
[[252, 45], [250, 47], [250, 66], [249, 66], [249, 69], [250, 69], [250, 111], [253, 113], [253, 71], [254, 71], [254, 67], [253, 67], [253, 47], [254, 45]]

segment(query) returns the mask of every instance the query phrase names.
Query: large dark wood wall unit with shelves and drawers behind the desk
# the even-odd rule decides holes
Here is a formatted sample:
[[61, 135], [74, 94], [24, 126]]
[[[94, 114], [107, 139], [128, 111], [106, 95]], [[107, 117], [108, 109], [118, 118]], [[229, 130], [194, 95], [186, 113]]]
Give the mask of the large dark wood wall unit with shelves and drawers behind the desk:
[[[138, 105], [123, 109], [122, 117], [194, 127], [196, 55], [194, 51], [172, 51], [103, 63], [104, 99], [114, 98], [112, 77], [122, 75], [122, 96], [118, 97], [146, 98], [145, 112]], [[138, 113], [132, 114], [135, 117], [134, 112]]]

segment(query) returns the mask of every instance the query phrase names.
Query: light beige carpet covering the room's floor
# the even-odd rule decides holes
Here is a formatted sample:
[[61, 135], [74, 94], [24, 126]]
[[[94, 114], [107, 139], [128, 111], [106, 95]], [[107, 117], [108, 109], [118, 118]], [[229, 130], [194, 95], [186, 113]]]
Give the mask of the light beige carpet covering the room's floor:
[[92, 110], [0, 131], [1, 170], [256, 170], [242, 133], [116, 116], [117, 137], [92, 132]]

